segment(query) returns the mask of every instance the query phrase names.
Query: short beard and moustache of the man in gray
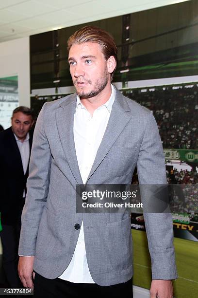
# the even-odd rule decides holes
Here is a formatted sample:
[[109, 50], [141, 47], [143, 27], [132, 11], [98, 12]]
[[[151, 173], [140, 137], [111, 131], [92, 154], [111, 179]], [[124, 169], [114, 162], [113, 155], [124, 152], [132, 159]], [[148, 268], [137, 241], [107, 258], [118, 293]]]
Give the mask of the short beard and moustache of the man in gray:
[[[77, 82], [77, 80], [75, 81], [75, 84], [76, 84], [76, 82]], [[85, 82], [92, 85], [92, 82], [90, 80], [86, 80]], [[100, 76], [97, 79], [97, 81], [94, 83], [94, 87], [92, 90], [90, 90], [88, 92], [84, 92], [83, 90], [82, 91], [76, 90], [76, 91], [77, 91], [77, 94], [82, 99], [91, 98], [91, 97], [98, 95], [106, 87], [107, 83], [108, 83], [108, 74], [106, 72], [104, 72], [104, 74], [102, 76]]]

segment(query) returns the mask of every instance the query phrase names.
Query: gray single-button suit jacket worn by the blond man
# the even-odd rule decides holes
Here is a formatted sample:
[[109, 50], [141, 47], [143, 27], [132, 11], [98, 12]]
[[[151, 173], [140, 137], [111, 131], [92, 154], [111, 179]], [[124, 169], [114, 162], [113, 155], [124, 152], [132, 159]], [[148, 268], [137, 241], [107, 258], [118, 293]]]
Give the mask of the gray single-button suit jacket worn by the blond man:
[[[73, 256], [83, 220], [87, 262], [101, 285], [132, 277], [131, 218], [127, 213], [77, 214], [78, 167], [73, 118], [76, 94], [46, 103], [36, 122], [22, 214], [19, 255], [35, 256], [33, 269], [55, 279]], [[166, 184], [165, 158], [148, 109], [116, 90], [109, 122], [89, 173], [89, 184]], [[177, 278], [170, 214], [145, 214], [153, 279]]]

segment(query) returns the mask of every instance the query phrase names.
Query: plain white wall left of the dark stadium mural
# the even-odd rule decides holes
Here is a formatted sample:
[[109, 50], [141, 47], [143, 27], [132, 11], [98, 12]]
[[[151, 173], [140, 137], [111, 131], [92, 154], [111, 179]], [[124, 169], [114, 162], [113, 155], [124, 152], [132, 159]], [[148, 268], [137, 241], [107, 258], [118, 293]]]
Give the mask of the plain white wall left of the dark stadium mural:
[[0, 77], [18, 75], [19, 105], [30, 107], [29, 37], [0, 43]]

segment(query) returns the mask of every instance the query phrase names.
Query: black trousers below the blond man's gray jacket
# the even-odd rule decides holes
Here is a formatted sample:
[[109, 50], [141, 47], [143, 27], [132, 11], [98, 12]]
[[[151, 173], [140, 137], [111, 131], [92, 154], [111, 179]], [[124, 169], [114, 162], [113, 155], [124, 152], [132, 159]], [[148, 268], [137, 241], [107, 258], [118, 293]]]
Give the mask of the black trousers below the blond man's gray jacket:
[[96, 283], [73, 283], [63, 279], [46, 279], [35, 273], [35, 298], [132, 298], [132, 279], [111, 286], [99, 286]]

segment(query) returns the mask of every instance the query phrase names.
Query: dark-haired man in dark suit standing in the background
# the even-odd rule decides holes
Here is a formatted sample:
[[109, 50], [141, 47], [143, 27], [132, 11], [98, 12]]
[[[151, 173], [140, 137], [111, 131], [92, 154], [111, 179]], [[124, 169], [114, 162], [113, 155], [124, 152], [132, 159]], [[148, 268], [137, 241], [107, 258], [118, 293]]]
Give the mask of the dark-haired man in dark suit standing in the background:
[[11, 119], [12, 126], [0, 133], [0, 238], [8, 284], [21, 287], [17, 249], [32, 147], [29, 130], [33, 125], [33, 114], [29, 108], [20, 106], [13, 111]]

